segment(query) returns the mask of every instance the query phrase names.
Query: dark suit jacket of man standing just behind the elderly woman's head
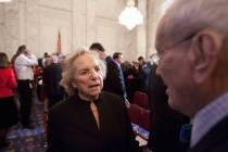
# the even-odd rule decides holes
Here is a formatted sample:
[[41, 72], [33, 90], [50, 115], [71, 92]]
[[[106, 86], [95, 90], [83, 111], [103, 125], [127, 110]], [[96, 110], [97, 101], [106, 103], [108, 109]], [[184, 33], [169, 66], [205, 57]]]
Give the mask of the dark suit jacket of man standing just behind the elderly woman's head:
[[106, 56], [106, 78], [104, 79], [103, 90], [116, 93], [123, 98], [126, 96], [126, 88], [122, 68], [115, 63], [114, 59]]

